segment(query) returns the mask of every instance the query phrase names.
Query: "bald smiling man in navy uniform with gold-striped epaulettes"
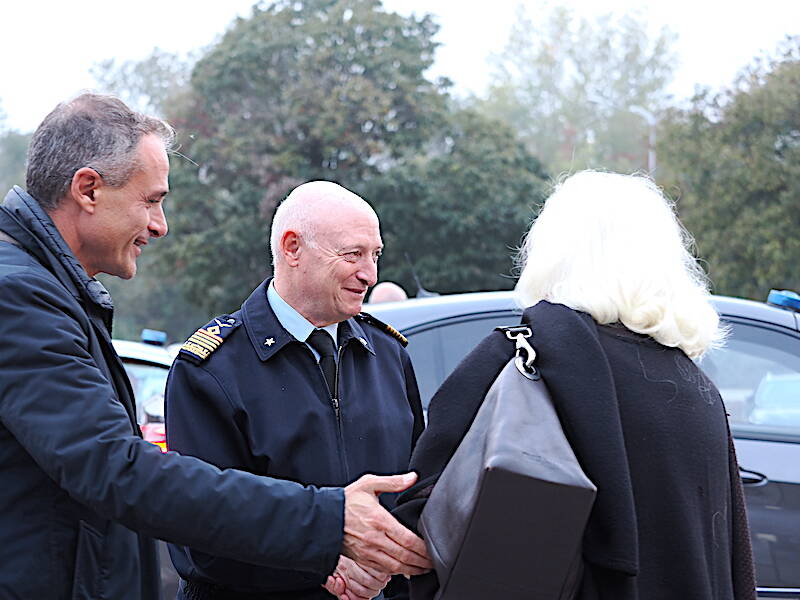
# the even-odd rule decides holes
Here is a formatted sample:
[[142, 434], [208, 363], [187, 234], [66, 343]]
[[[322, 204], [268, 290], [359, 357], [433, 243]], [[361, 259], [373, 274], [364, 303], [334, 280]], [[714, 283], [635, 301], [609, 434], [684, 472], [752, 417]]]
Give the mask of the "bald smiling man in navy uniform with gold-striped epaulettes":
[[[360, 312], [383, 248], [375, 212], [335, 183], [305, 183], [275, 212], [270, 247], [275, 277], [178, 354], [167, 384], [169, 448], [313, 485], [405, 471], [423, 428], [405, 338]], [[392, 572], [346, 556], [331, 574], [191, 545], [170, 554], [186, 599], [368, 599]]]

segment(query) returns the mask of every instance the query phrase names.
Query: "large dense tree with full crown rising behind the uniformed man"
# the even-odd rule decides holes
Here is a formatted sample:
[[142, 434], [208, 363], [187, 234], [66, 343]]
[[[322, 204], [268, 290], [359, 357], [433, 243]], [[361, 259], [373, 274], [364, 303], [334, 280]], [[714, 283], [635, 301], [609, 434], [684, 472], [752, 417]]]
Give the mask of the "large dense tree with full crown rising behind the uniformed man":
[[294, 185], [352, 187], [419, 149], [441, 122], [437, 26], [377, 0], [281, 0], [237, 19], [194, 67], [173, 161], [159, 260], [209, 312], [231, 310], [268, 272], [267, 235]]

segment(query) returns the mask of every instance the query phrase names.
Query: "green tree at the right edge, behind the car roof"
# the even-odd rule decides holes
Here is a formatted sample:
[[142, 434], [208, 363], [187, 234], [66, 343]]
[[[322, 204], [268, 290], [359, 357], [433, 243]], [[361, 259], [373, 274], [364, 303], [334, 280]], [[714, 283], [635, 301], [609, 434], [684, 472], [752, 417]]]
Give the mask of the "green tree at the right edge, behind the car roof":
[[800, 36], [756, 60], [731, 89], [673, 110], [659, 146], [718, 293], [800, 289]]

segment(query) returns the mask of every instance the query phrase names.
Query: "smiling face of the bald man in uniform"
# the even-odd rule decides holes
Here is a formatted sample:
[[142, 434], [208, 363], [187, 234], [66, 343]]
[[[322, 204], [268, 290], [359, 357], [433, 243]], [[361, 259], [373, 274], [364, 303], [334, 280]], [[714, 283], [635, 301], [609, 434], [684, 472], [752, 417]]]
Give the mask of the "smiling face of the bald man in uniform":
[[317, 327], [361, 312], [369, 287], [378, 279], [383, 249], [378, 218], [363, 207], [331, 206], [315, 224], [311, 243], [300, 240], [292, 306]]

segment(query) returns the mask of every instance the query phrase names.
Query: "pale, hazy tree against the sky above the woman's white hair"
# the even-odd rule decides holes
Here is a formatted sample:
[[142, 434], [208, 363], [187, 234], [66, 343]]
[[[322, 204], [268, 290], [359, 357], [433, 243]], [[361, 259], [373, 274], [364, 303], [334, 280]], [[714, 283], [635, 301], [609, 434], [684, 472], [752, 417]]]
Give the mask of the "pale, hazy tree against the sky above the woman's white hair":
[[674, 34], [662, 28], [651, 40], [636, 13], [592, 22], [564, 7], [536, 20], [518, 11], [476, 106], [513, 127], [551, 172], [644, 170], [648, 119], [669, 98]]

